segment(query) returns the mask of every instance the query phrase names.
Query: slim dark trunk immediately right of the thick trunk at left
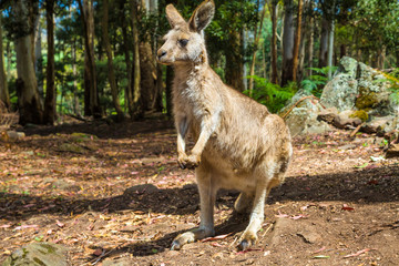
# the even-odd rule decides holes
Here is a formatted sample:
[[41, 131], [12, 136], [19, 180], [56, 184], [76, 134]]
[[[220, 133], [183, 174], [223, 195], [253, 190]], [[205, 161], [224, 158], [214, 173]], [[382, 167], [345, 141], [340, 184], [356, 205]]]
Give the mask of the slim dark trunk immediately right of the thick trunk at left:
[[57, 119], [55, 110], [55, 83], [54, 83], [54, 0], [45, 1], [45, 22], [48, 41], [48, 63], [45, 79], [45, 100], [44, 100], [44, 123], [54, 124]]

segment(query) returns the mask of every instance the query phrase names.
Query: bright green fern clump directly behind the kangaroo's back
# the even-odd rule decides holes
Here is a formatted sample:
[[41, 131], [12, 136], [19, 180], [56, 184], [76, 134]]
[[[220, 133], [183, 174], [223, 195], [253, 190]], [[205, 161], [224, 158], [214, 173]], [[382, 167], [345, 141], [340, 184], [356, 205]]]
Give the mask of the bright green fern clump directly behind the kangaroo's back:
[[[252, 98], [257, 102], [267, 106], [272, 113], [277, 113], [285, 106], [285, 103], [291, 99], [297, 91], [295, 82], [288, 83], [280, 88], [278, 84], [269, 82], [267, 79], [250, 75], [255, 81], [255, 88]], [[244, 94], [249, 95], [249, 90], [244, 91]]]

